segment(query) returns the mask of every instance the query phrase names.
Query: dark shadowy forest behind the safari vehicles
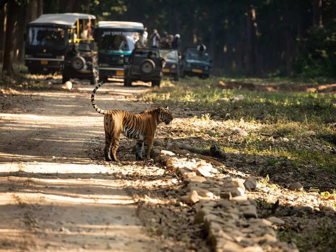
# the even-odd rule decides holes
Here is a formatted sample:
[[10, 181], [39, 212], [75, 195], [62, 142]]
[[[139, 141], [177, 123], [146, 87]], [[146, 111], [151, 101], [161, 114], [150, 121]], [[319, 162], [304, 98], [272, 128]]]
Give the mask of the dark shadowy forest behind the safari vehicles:
[[336, 0], [0, 0], [2, 74], [23, 61], [27, 24], [62, 12], [178, 33], [181, 49], [202, 42], [218, 76], [336, 76]]

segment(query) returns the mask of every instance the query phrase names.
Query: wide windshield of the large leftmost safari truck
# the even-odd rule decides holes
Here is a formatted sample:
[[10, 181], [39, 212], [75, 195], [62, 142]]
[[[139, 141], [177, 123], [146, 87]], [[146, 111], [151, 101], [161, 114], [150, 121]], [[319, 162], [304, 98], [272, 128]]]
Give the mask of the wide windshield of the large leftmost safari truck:
[[28, 46], [63, 48], [66, 45], [65, 30], [61, 27], [30, 27]]

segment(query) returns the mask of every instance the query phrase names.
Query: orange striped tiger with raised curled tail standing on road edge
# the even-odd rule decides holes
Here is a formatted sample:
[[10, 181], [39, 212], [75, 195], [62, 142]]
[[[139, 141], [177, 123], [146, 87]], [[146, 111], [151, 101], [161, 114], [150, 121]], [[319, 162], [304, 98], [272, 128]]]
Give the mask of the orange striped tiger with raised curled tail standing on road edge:
[[116, 152], [119, 146], [121, 133], [128, 138], [136, 139], [136, 160], [143, 159], [143, 146], [145, 147], [146, 159], [149, 159], [158, 125], [160, 123], [169, 125], [173, 120], [173, 115], [168, 106], [145, 110], [140, 112], [140, 114], [133, 114], [125, 110], [102, 110], [96, 105], [94, 95], [97, 89], [103, 84], [104, 82], [102, 81], [93, 89], [91, 94], [91, 104], [99, 114], [104, 115], [105, 160], [119, 162], [116, 157]]

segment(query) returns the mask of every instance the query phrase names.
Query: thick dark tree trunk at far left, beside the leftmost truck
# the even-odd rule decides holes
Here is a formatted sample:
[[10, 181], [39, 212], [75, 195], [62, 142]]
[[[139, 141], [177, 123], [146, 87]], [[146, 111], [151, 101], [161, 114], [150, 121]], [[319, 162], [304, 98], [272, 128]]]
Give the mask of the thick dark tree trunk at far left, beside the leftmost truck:
[[10, 16], [6, 25], [6, 38], [4, 44], [2, 71], [6, 71], [8, 75], [13, 74], [13, 60], [15, 55], [15, 45], [17, 42], [17, 19], [20, 15], [20, 6], [16, 0], [7, 3], [7, 16]]

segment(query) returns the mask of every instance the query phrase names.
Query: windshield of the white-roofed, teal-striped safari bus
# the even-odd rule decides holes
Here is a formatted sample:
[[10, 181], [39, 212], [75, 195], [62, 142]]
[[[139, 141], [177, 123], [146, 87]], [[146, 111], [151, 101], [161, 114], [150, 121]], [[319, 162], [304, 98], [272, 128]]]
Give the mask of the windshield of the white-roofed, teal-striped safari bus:
[[131, 52], [139, 41], [138, 32], [103, 31], [99, 40], [100, 52]]

